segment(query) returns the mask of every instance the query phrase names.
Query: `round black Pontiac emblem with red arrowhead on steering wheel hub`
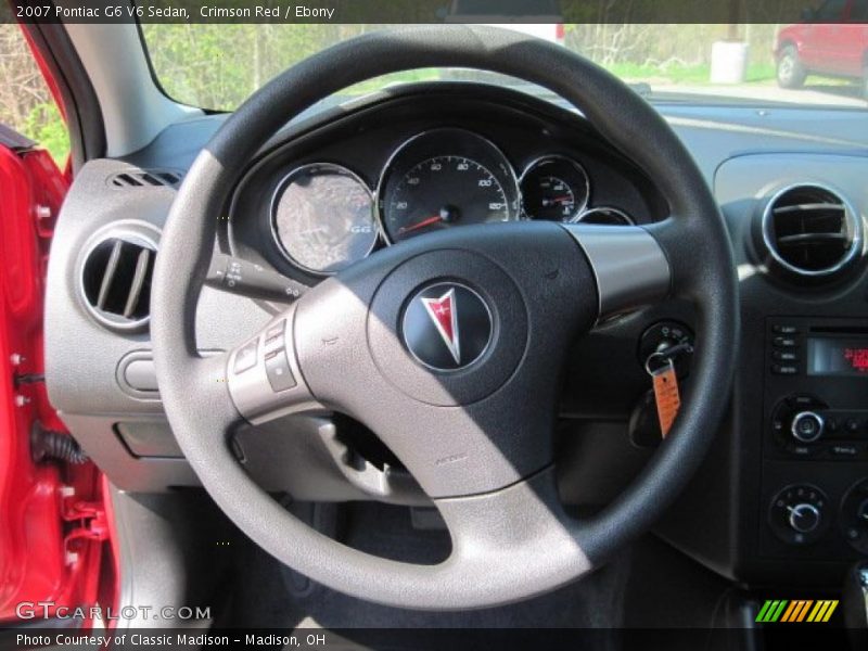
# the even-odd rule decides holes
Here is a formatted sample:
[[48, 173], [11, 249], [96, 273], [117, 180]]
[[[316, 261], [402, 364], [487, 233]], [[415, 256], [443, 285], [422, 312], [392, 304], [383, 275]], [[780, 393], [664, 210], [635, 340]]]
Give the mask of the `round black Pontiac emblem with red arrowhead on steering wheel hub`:
[[492, 343], [488, 305], [459, 283], [429, 285], [404, 310], [401, 331], [410, 354], [423, 366], [456, 371], [480, 359]]

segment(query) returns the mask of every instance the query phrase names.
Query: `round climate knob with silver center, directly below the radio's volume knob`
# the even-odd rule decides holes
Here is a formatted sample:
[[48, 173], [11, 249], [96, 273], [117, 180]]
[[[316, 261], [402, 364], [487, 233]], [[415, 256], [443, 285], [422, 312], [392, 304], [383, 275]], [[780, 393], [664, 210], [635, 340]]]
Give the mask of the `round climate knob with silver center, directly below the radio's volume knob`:
[[789, 545], [816, 542], [829, 526], [826, 494], [810, 485], [788, 486], [771, 500], [768, 524]]

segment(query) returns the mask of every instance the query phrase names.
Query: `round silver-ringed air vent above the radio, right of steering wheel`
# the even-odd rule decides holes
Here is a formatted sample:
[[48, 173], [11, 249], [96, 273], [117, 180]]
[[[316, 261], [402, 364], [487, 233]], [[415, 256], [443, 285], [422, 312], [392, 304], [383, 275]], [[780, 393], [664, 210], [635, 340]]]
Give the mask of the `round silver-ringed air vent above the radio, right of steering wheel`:
[[861, 217], [822, 186], [792, 186], [775, 194], [762, 227], [771, 261], [802, 277], [834, 276], [863, 250]]

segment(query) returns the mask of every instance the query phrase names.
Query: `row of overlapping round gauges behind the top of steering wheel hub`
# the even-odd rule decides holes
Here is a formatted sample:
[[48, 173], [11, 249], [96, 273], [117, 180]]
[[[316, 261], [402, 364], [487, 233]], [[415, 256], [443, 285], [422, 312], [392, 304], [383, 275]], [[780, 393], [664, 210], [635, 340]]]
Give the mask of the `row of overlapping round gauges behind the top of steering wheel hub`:
[[391, 245], [435, 230], [519, 219], [630, 225], [625, 210], [595, 205], [585, 168], [561, 154], [521, 175], [490, 140], [435, 128], [400, 144], [375, 188], [353, 169], [311, 163], [290, 171], [270, 202], [271, 234], [285, 259], [330, 276]]

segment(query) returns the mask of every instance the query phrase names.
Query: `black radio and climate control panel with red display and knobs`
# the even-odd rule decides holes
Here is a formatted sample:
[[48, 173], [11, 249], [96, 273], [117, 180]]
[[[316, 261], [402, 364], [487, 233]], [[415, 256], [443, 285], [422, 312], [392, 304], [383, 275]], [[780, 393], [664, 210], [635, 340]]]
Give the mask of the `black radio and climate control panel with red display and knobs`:
[[766, 320], [760, 554], [868, 553], [868, 322]]

